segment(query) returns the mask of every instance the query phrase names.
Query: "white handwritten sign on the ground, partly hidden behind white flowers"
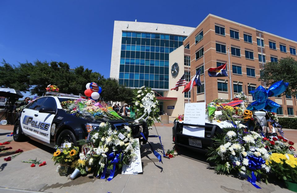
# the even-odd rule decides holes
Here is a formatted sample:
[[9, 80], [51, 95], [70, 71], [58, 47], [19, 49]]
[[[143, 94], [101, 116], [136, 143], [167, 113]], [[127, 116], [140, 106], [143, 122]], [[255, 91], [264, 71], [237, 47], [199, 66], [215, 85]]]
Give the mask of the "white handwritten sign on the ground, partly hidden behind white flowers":
[[141, 156], [139, 149], [139, 139], [134, 139], [138, 143], [136, 150], [136, 158], [134, 161], [130, 161], [129, 164], [123, 165], [122, 174], [137, 174], [142, 172]]

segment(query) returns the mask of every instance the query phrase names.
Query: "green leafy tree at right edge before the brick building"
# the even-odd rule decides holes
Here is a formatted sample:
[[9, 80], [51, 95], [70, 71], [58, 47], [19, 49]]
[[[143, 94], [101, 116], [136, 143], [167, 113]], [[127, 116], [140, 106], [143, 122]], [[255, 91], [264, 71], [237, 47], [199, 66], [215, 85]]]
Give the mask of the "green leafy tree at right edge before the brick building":
[[280, 59], [278, 62], [268, 62], [260, 70], [259, 81], [272, 85], [277, 81], [289, 82], [289, 87], [284, 94], [293, 97], [297, 94], [297, 61], [292, 57]]

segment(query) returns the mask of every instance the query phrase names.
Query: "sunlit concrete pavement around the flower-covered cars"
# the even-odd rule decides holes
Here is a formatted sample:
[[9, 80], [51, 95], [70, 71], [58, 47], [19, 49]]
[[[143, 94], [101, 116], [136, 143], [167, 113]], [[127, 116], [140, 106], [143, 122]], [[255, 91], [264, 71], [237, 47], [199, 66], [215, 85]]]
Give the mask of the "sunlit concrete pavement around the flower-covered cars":
[[[12, 140], [7, 137], [11, 133], [12, 125], [0, 126], [0, 143]], [[161, 135], [162, 144], [167, 149], [172, 149], [172, 126], [157, 125], [158, 134]], [[156, 129], [151, 130], [157, 134]], [[286, 130], [297, 137], [297, 130]], [[293, 140], [292, 140], [293, 141]], [[161, 155], [161, 144], [158, 138], [149, 138]], [[79, 176], [71, 180], [70, 174], [59, 176], [56, 172], [57, 166], [51, 160], [54, 149], [49, 148], [32, 140], [16, 143], [12, 141], [5, 147], [13, 147], [12, 150], [23, 149], [24, 152], [11, 161], [4, 161], [0, 153], [0, 193], [19, 192], [113, 192], [113, 193], [139, 193], [139, 192], [291, 192], [287, 190], [284, 183], [276, 179], [269, 179], [269, 183], [258, 183], [262, 189], [256, 189], [251, 183], [239, 176], [219, 175], [209, 168], [206, 156], [199, 152], [193, 152], [182, 148], [179, 155], [167, 159], [162, 157], [162, 163], [151, 152], [146, 144], [141, 149], [141, 161], [143, 173], [120, 174], [116, 172], [114, 179], [110, 182], [98, 179], [93, 175]], [[35, 159], [46, 161], [42, 167], [31, 168], [28, 163], [22, 160]]]

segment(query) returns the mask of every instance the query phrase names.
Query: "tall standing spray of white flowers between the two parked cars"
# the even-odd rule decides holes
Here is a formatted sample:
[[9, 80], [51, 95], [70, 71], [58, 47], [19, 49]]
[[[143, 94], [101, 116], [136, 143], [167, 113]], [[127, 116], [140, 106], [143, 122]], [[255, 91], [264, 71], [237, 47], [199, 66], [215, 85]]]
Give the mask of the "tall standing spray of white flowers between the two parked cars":
[[160, 122], [159, 103], [151, 88], [142, 86], [140, 90], [134, 90], [132, 103], [135, 104], [133, 106], [136, 112], [136, 122], [146, 121], [149, 129], [152, 129], [154, 120]]

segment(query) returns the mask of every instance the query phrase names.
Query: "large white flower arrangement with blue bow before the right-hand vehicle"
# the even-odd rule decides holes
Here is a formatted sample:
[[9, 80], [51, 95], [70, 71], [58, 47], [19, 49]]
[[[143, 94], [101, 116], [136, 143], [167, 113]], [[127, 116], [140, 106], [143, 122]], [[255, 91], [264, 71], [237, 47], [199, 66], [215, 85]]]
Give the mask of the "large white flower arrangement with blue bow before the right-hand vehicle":
[[214, 147], [209, 148], [207, 160], [215, 164], [217, 173], [240, 173], [253, 184], [256, 179], [267, 182], [270, 166], [265, 165], [265, 160], [269, 154], [262, 137], [253, 131], [244, 132], [242, 127], [222, 129], [223, 133], [213, 138]]

